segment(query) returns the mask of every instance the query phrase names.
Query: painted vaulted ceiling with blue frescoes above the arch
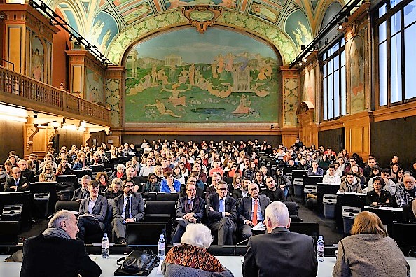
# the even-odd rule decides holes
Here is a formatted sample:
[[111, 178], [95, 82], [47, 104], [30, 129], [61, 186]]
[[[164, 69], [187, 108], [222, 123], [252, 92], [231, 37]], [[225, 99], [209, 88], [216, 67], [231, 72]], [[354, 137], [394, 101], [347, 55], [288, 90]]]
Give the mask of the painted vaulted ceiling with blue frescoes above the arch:
[[[36, 1], [36, 0], [35, 0]], [[90, 43], [106, 52], [124, 29], [151, 19], [155, 15], [183, 6], [221, 6], [241, 13], [259, 23], [270, 24], [286, 33], [293, 47], [307, 45], [319, 29], [326, 9], [333, 0], [49, 0], [48, 6], [59, 9], [65, 20]]]

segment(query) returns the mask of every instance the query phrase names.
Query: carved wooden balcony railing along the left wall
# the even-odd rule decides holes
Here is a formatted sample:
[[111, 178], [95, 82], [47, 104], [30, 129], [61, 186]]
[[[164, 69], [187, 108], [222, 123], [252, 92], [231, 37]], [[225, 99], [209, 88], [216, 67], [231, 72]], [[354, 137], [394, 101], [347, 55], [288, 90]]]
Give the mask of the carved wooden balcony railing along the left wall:
[[46, 108], [53, 108], [56, 113], [59, 111], [72, 113], [78, 115], [76, 118], [81, 120], [85, 117], [92, 121], [99, 120], [106, 125], [110, 124], [108, 108], [62, 92], [56, 87], [23, 76], [3, 66], [0, 66], [0, 94], [22, 97], [23, 101], [30, 100], [25, 106], [29, 106], [29, 102], [32, 102]]

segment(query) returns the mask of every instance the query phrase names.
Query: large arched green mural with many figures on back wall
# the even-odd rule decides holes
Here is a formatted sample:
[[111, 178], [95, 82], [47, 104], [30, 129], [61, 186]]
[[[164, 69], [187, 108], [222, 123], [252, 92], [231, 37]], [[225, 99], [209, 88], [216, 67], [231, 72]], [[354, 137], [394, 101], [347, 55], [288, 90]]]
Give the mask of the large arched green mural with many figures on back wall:
[[278, 122], [280, 65], [235, 31], [155, 36], [127, 56], [125, 122]]

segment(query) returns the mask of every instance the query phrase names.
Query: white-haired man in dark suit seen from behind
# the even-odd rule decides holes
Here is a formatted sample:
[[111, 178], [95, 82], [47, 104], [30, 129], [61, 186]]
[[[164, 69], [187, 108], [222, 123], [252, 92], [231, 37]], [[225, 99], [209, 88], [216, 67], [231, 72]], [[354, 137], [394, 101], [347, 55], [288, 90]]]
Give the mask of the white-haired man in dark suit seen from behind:
[[289, 212], [280, 201], [265, 210], [267, 234], [251, 236], [242, 267], [243, 276], [317, 276], [314, 239], [292, 233]]

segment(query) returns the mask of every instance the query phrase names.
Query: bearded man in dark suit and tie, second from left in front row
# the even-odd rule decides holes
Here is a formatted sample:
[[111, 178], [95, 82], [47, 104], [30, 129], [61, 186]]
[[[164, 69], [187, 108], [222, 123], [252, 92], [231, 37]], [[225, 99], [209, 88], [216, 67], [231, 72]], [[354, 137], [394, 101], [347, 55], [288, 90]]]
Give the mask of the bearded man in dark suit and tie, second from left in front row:
[[114, 198], [113, 222], [118, 243], [127, 244], [125, 235], [125, 225], [127, 223], [139, 222], [144, 217], [144, 202], [141, 194], [133, 192], [134, 182], [132, 180], [123, 181], [123, 195]]

